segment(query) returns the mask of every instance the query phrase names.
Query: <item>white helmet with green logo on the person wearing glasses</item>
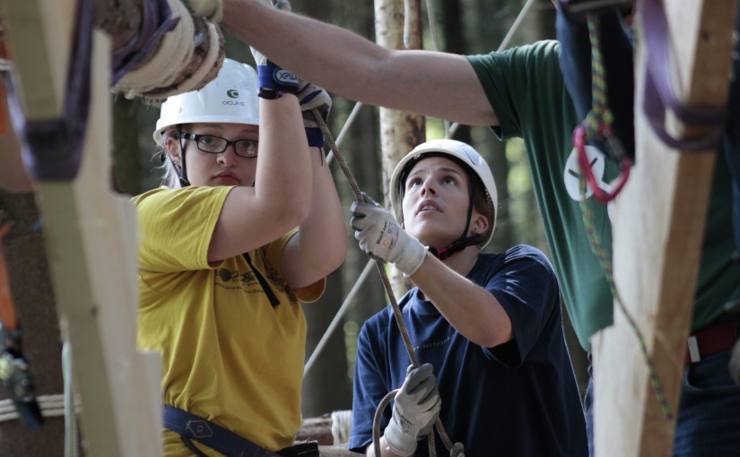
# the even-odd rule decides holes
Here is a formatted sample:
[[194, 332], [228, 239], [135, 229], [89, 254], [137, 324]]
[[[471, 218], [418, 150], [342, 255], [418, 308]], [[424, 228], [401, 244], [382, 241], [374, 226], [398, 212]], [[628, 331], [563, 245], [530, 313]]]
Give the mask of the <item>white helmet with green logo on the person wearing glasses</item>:
[[161, 104], [154, 141], [173, 125], [225, 123], [259, 125], [257, 72], [249, 65], [223, 59], [213, 81], [202, 89], [169, 97]]

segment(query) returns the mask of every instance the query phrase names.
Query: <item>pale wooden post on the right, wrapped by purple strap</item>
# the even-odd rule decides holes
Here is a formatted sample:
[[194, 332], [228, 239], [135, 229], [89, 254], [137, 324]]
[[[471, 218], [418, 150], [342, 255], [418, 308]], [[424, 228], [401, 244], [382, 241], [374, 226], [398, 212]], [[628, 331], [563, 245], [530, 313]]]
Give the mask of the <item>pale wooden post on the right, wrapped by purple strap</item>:
[[[679, 98], [724, 106], [736, 0], [663, 3], [683, 84]], [[637, 42], [640, 94], [646, 49], [644, 39]], [[614, 207], [614, 276], [676, 413], [716, 154], [671, 150], [650, 130], [640, 107], [638, 99], [637, 163]], [[673, 132], [687, 133], [671, 121]], [[667, 420], [661, 410], [636, 335], [616, 305], [614, 327], [592, 343], [596, 456], [671, 455], [675, 418]]]

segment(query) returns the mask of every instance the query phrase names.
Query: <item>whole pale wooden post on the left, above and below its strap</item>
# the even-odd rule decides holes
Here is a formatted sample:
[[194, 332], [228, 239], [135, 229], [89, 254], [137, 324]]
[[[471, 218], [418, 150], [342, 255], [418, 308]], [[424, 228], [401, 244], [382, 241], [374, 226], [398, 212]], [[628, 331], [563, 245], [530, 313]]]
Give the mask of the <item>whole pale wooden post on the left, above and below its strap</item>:
[[[73, 0], [4, 1], [28, 120], [63, 112]], [[135, 350], [136, 222], [110, 191], [110, 42], [93, 35], [91, 107], [79, 175], [36, 194], [63, 337], [70, 342], [83, 448], [94, 456], [161, 455], [158, 356]]]

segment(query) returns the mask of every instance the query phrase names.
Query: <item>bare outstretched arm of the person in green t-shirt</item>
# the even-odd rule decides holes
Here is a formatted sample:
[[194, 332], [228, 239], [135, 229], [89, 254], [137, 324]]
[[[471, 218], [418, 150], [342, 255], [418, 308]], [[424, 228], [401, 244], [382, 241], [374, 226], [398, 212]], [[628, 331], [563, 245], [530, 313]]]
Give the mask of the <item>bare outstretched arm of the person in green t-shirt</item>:
[[498, 125], [463, 56], [388, 49], [257, 0], [224, 0], [222, 26], [277, 65], [348, 99], [466, 125]]

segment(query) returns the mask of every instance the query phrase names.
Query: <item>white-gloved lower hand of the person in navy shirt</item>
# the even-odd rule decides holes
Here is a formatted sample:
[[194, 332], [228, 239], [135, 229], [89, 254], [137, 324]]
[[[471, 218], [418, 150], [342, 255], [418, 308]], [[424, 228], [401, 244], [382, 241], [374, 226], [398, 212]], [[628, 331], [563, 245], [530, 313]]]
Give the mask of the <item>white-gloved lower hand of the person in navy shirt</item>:
[[442, 401], [431, 364], [406, 370], [406, 379], [396, 393], [393, 416], [383, 435], [391, 452], [412, 455], [416, 442], [429, 435], [440, 416]]

